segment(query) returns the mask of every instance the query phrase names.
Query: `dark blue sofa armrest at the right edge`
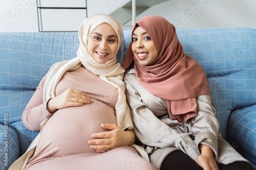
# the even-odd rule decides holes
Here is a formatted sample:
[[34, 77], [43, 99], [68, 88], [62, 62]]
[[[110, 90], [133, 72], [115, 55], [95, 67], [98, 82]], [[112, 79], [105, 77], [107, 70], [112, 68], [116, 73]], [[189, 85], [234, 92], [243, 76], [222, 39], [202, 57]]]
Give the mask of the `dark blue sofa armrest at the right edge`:
[[256, 165], [256, 105], [231, 112], [227, 141], [241, 155]]

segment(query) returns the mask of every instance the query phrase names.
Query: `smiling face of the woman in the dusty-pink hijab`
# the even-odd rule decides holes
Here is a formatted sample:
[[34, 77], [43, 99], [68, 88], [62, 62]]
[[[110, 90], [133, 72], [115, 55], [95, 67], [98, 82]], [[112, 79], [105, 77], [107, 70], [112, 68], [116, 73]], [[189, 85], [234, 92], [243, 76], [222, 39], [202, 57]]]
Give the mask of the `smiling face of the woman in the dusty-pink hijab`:
[[132, 51], [141, 65], [151, 65], [157, 58], [154, 42], [147, 32], [139, 26], [133, 32]]

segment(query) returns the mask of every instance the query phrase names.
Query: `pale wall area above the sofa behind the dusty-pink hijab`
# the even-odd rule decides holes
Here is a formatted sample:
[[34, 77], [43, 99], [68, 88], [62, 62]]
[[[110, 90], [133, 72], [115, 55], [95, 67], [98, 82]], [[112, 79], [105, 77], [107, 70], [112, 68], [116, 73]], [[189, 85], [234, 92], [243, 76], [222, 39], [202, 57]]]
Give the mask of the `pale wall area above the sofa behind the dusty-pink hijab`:
[[255, 8], [255, 0], [172, 0], [147, 9], [136, 19], [146, 15], [159, 15], [180, 29], [213, 27], [256, 29]]

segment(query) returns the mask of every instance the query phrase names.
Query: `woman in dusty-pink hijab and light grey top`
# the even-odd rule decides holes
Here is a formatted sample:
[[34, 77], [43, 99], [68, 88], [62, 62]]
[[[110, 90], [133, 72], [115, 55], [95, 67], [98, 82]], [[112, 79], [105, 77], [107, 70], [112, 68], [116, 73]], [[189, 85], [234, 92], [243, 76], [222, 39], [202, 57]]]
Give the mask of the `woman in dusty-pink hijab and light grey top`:
[[254, 169], [221, 137], [205, 72], [165, 18], [136, 21], [123, 67], [140, 154], [157, 169]]

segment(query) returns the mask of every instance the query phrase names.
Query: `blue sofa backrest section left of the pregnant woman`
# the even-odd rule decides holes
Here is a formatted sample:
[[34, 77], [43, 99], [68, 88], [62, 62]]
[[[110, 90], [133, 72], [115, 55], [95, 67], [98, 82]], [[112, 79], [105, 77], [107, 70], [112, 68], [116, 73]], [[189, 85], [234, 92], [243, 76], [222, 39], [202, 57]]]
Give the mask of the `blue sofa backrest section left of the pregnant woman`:
[[38, 132], [27, 130], [21, 115], [42, 77], [58, 61], [76, 56], [77, 32], [0, 33], [0, 123], [8, 113], [8, 126], [19, 136], [23, 154]]

